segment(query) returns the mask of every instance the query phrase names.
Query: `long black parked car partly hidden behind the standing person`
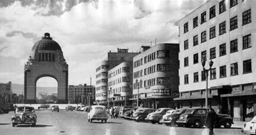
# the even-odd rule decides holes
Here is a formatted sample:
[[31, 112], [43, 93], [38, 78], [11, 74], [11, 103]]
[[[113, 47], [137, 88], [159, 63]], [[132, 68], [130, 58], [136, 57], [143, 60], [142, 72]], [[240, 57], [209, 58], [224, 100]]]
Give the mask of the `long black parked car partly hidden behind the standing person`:
[[[207, 113], [209, 112], [208, 108], [189, 108], [184, 114], [180, 115], [177, 124], [179, 126], [184, 125], [185, 127], [202, 127], [205, 124]], [[214, 124], [214, 127], [221, 127], [223, 125], [225, 128], [230, 128], [233, 122], [233, 118], [230, 115], [218, 114], [218, 120]]]

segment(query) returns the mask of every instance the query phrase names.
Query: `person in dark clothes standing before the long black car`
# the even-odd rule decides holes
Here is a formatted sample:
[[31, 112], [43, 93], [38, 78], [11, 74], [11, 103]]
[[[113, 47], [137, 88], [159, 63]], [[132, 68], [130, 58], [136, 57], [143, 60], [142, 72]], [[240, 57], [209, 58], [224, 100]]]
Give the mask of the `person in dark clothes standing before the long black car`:
[[218, 120], [218, 115], [215, 113], [215, 111], [212, 108], [210, 108], [206, 117], [206, 124], [208, 125], [210, 135], [214, 135], [213, 128], [216, 120]]

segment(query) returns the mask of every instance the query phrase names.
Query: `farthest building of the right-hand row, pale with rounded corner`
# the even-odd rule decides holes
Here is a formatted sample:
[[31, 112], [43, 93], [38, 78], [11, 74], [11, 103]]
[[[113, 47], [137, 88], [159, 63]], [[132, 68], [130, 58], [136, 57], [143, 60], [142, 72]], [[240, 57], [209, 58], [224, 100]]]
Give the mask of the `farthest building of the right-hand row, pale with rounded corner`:
[[108, 71], [122, 62], [132, 61], [137, 52], [128, 52], [128, 49], [117, 48], [117, 52], [108, 52], [96, 68], [96, 102], [107, 104], [108, 101]]

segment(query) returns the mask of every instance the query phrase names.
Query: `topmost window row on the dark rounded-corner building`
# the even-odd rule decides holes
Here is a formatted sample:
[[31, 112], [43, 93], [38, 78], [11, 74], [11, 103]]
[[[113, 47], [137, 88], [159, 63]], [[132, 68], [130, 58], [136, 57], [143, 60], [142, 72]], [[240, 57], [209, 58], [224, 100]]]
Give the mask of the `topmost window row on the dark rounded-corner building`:
[[[144, 57], [144, 63], [147, 63], [147, 62], [150, 62], [150, 61], [156, 59], [156, 55], [157, 55], [157, 58], [170, 57], [169, 56], [169, 50], [159, 50], [159, 51], [157, 51], [157, 54], [156, 54], [156, 52], [153, 52], [153, 53], [150, 53], [149, 55], [145, 56]], [[136, 68], [138, 66], [141, 66], [141, 65], [143, 65], [143, 58], [133, 62], [133, 67], [134, 68]]]

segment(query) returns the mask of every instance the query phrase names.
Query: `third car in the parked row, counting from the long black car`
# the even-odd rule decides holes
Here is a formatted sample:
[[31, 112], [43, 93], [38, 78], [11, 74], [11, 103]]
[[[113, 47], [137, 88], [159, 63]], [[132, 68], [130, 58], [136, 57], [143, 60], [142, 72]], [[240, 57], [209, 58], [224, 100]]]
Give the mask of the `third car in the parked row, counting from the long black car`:
[[172, 108], [159, 108], [153, 113], [149, 113], [147, 115], [147, 118], [145, 118], [146, 121], [150, 121], [152, 124], [161, 124], [160, 120], [163, 118], [163, 115], [169, 110], [173, 110]]

